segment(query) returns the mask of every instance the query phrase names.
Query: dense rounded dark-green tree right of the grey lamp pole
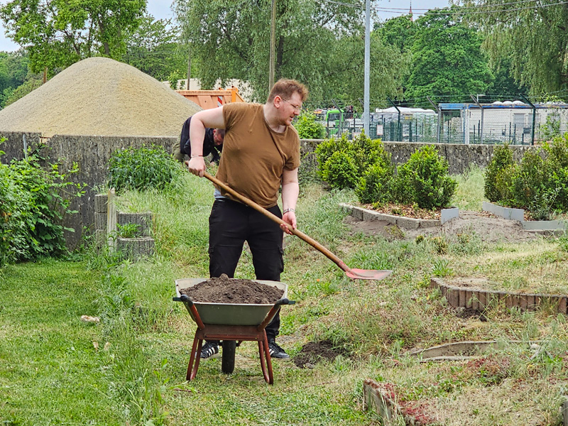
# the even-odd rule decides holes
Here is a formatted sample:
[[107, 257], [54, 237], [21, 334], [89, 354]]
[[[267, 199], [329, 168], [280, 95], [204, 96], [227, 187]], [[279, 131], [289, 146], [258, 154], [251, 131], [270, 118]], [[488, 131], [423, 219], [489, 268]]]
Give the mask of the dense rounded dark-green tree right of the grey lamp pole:
[[485, 93], [493, 79], [481, 35], [448, 12], [436, 9], [416, 21], [406, 99], [463, 102], [469, 94]]

